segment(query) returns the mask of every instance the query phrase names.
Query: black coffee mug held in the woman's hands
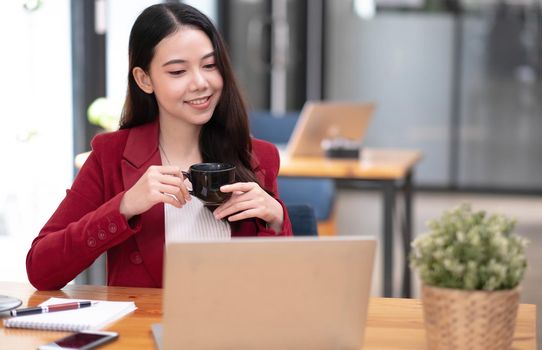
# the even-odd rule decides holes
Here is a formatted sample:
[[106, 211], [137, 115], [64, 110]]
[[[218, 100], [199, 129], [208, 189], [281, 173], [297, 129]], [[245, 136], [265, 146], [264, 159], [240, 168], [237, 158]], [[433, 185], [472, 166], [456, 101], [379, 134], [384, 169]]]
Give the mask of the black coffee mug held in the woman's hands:
[[231, 197], [220, 191], [223, 185], [235, 182], [235, 165], [226, 163], [193, 164], [183, 175], [192, 183], [191, 195], [198, 197], [207, 206], [217, 206]]

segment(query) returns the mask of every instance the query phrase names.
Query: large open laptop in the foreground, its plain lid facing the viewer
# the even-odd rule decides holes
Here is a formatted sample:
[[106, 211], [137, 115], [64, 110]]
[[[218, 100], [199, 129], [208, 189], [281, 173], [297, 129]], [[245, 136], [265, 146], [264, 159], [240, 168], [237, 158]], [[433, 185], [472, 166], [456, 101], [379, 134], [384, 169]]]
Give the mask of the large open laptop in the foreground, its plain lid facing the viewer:
[[360, 349], [375, 249], [354, 236], [169, 244], [162, 348]]

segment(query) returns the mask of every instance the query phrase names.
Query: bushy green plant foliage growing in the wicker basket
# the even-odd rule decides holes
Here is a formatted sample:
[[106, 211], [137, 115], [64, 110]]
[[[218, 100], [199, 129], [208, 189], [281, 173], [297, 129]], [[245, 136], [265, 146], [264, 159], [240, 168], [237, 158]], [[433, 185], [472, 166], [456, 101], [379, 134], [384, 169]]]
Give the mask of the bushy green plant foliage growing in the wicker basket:
[[528, 241], [513, 233], [515, 220], [463, 204], [428, 224], [412, 242], [410, 266], [423, 283], [464, 290], [516, 287], [525, 273]]

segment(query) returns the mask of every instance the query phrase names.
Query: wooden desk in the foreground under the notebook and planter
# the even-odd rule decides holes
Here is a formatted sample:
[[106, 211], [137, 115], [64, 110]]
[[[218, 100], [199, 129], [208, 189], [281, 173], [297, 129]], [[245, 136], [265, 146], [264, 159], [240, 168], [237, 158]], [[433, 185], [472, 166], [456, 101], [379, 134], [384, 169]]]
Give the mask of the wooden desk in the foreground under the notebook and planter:
[[[53, 296], [134, 301], [138, 309], [108, 328], [119, 332], [119, 340], [104, 346], [104, 349], [154, 349], [150, 327], [151, 324], [162, 320], [161, 289], [70, 285], [61, 291], [38, 292], [28, 284], [0, 282], [0, 294], [22, 299], [23, 306], [34, 306]], [[0, 325], [0, 349], [36, 349], [40, 344], [67, 334], [7, 329]], [[520, 305], [512, 348], [536, 349], [535, 305]], [[420, 300], [371, 298], [363, 349], [426, 349]]]

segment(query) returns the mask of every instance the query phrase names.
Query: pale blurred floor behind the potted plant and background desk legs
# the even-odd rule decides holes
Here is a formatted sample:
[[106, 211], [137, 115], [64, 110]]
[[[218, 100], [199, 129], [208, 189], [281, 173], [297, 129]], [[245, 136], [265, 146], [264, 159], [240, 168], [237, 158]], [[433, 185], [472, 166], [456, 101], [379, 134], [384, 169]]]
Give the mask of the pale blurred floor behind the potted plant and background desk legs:
[[[461, 203], [471, 203], [474, 209], [484, 209], [490, 213], [502, 213], [517, 220], [516, 232], [527, 237], [529, 267], [522, 285], [522, 303], [537, 305], [537, 319], [542, 317], [542, 196], [434, 193], [418, 192], [414, 197], [414, 234], [426, 231], [426, 222], [439, 217]], [[339, 234], [363, 234], [379, 237], [381, 232], [382, 198], [374, 190], [339, 190], [336, 202]], [[401, 207], [398, 208], [402, 210]], [[395, 237], [400, 237], [397, 232]], [[400, 244], [396, 238], [397, 246]], [[400, 256], [399, 249], [396, 256]], [[400, 271], [402, 259], [396, 258], [395, 271]], [[380, 256], [377, 255], [373, 278], [373, 295], [380, 295]], [[399, 285], [400, 276], [395, 276]], [[418, 296], [419, 283], [414, 278], [414, 296]], [[397, 291], [396, 291], [397, 293]], [[397, 294], [398, 295], [398, 294]], [[537, 323], [538, 344], [542, 344], [542, 326]]]

